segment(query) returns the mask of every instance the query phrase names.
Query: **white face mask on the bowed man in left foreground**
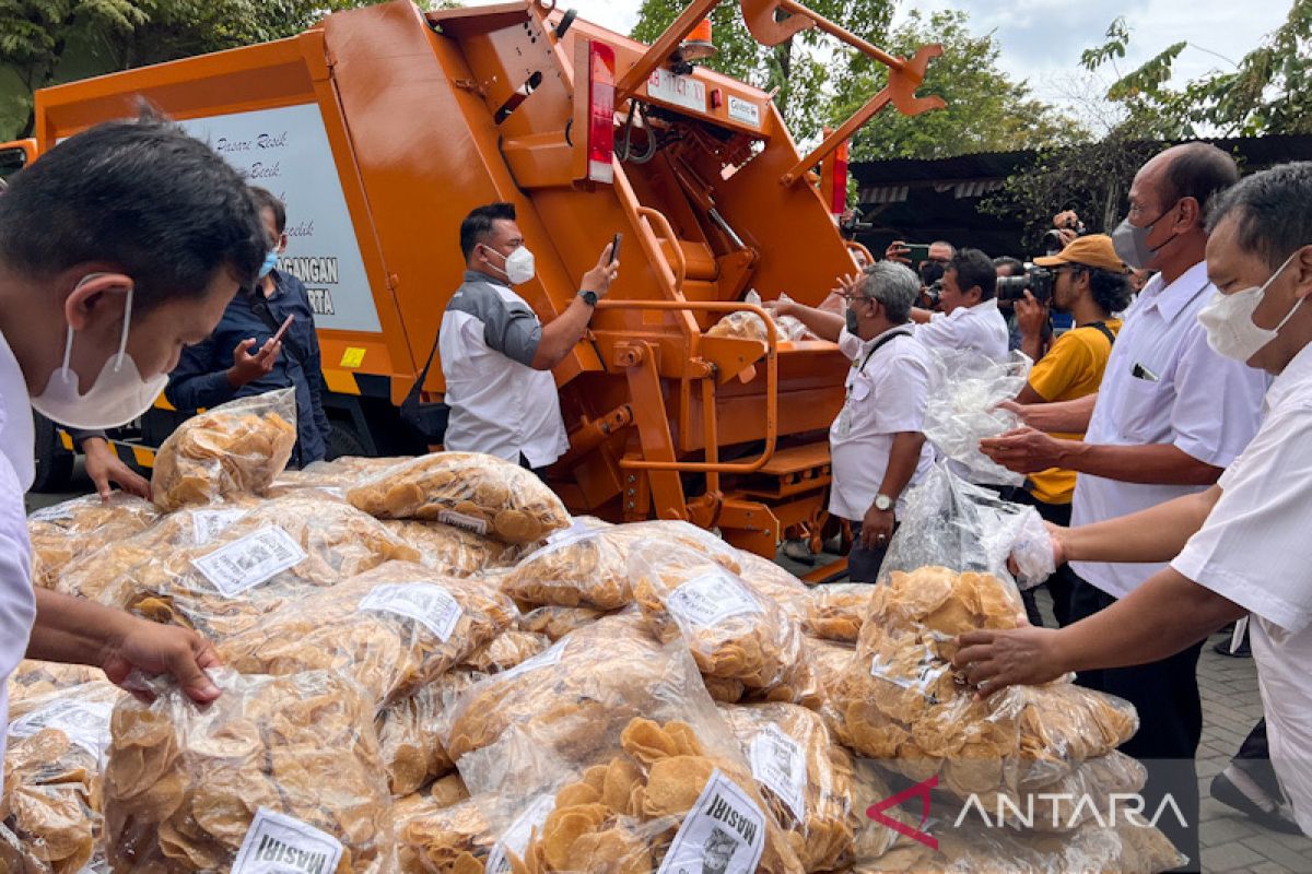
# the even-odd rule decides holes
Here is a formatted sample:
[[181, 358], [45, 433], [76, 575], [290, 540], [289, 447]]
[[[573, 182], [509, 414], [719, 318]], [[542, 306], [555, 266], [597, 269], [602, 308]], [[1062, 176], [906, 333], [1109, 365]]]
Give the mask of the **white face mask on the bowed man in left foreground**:
[[[77, 287], [102, 276], [83, 276]], [[127, 354], [127, 332], [133, 324], [133, 290], [127, 290], [123, 304], [123, 334], [118, 341], [118, 354], [109, 358], [96, 377], [96, 383], [83, 394], [79, 379], [68, 367], [73, 351], [73, 329], [68, 326], [64, 343], [64, 363], [50, 375], [46, 390], [31, 398], [31, 406], [47, 419], [73, 428], [94, 431], [126, 425], [151, 409], [155, 398], [168, 385], [168, 373], [143, 380], [136, 362]]]

